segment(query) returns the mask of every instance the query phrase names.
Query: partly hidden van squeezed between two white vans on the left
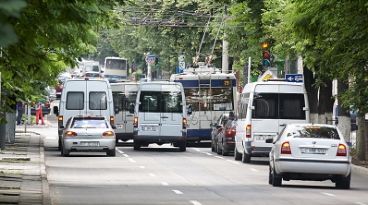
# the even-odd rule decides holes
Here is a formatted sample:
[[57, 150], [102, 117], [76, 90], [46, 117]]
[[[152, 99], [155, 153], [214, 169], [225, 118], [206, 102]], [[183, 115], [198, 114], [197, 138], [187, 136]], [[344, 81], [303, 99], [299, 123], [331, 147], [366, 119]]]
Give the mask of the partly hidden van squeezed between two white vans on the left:
[[129, 106], [135, 104], [136, 95], [140, 83], [110, 83], [115, 115], [116, 143], [119, 140], [124, 142], [133, 140], [133, 119], [134, 115], [129, 113]]

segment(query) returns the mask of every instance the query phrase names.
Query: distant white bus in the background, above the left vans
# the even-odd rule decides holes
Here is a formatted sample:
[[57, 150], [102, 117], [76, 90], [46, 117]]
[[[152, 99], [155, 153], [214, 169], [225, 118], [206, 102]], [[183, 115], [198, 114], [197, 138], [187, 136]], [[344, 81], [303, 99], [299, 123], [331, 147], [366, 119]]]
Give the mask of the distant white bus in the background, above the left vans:
[[127, 60], [119, 57], [106, 57], [105, 71], [102, 76], [109, 82], [125, 81], [127, 79]]

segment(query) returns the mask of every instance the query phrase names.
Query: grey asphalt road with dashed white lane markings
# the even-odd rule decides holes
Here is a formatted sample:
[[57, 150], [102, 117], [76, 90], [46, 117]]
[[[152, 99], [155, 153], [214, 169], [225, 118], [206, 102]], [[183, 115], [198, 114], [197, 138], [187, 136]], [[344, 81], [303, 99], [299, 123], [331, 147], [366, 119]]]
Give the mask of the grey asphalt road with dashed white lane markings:
[[[55, 119], [54, 119], [55, 117]], [[57, 122], [56, 116], [48, 120]], [[55, 124], [56, 125], [56, 124]], [[267, 158], [251, 164], [210, 147], [150, 145], [134, 151], [119, 143], [117, 156], [57, 151], [57, 127], [35, 130], [45, 138], [52, 204], [368, 204], [368, 177], [353, 174], [350, 190], [331, 181], [268, 185]]]

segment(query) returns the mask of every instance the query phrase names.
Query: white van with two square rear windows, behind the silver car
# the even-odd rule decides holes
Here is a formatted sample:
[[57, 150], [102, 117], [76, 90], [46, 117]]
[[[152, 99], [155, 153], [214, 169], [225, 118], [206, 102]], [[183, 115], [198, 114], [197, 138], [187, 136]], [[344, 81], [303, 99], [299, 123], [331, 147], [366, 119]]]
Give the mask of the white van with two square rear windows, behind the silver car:
[[73, 116], [105, 116], [113, 126], [114, 110], [110, 83], [104, 79], [67, 79], [61, 92], [59, 107], [54, 106], [53, 113], [59, 118], [59, 151], [63, 131], [60, 126], [66, 127], [67, 120]]

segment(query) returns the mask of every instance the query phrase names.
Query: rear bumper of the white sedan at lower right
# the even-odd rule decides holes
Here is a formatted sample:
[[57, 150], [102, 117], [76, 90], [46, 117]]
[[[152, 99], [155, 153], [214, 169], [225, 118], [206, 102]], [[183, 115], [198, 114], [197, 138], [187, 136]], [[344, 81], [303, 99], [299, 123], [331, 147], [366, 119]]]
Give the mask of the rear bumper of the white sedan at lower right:
[[277, 158], [275, 169], [282, 173], [314, 173], [338, 174], [348, 176], [351, 169], [350, 161], [336, 160], [308, 160], [305, 158]]

